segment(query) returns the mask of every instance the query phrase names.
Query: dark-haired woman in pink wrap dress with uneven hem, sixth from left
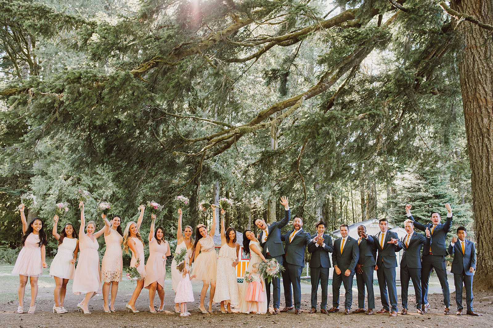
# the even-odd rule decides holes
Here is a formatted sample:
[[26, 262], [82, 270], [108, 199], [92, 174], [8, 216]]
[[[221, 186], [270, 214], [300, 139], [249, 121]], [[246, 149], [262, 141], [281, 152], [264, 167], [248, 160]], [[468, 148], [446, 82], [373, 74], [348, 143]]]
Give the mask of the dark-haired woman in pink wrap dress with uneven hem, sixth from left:
[[149, 310], [154, 309], [154, 297], [157, 294], [161, 304], [158, 311], [164, 310], [164, 280], [166, 279], [166, 257], [171, 255], [170, 244], [164, 239], [164, 228], [157, 227], [154, 232], [156, 214], [152, 214], [151, 230], [149, 231], [149, 258], [145, 264], [144, 288], [149, 290]]

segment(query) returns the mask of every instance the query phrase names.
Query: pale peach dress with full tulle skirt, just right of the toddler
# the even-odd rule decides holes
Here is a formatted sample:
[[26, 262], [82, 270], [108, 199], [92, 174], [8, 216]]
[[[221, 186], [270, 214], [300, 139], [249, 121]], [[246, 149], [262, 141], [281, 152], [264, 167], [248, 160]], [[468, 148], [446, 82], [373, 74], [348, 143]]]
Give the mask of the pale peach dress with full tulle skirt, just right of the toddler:
[[206, 283], [215, 283], [217, 270], [217, 254], [215, 252], [214, 240], [207, 235], [206, 238], [199, 239], [200, 254], [193, 263], [192, 275], [195, 279], [205, 281]]

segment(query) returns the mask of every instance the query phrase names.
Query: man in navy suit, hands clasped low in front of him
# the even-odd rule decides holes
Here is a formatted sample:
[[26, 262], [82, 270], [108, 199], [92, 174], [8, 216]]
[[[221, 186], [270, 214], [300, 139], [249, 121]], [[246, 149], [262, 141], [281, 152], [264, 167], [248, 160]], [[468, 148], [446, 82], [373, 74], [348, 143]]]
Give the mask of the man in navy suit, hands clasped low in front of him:
[[332, 274], [332, 308], [329, 313], [339, 312], [339, 291], [341, 283], [344, 283], [346, 290], [344, 301], [344, 314], [349, 314], [352, 305], [352, 277], [354, 268], [358, 263], [359, 247], [356, 239], [349, 236], [347, 224], [341, 224], [339, 228], [341, 238], [334, 241], [334, 251], [332, 252], [332, 264], [334, 273]]

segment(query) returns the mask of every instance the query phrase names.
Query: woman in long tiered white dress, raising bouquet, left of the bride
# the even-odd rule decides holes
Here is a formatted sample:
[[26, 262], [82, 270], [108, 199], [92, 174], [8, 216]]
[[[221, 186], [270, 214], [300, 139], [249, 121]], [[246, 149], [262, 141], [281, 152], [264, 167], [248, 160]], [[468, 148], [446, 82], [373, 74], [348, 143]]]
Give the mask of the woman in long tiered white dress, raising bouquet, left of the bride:
[[221, 249], [217, 257], [216, 291], [214, 303], [221, 303], [221, 312], [231, 313], [231, 304], [239, 304], [236, 266], [239, 261], [240, 244], [236, 242], [236, 230], [229, 227], [224, 231], [224, 209], [221, 210]]

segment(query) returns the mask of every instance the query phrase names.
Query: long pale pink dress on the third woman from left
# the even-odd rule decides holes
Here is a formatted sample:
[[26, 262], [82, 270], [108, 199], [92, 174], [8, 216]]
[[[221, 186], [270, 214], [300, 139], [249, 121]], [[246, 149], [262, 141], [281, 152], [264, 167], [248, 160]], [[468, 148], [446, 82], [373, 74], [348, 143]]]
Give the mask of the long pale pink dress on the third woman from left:
[[99, 267], [98, 239], [79, 236], [79, 260], [73, 276], [72, 291], [75, 295], [96, 292], [101, 294], [101, 271]]

